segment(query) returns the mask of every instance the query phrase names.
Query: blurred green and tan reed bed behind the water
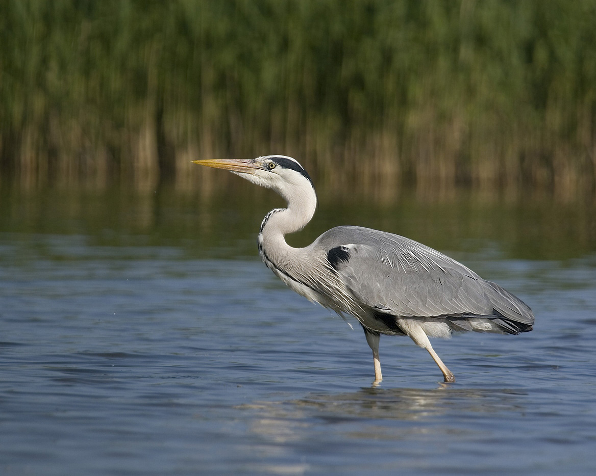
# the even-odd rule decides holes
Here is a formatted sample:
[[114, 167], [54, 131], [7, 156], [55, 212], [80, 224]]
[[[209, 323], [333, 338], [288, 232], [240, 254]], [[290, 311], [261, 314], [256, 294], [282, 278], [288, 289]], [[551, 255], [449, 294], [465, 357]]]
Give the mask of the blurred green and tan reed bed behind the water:
[[[0, 182], [593, 193], [594, 0], [4, 0]], [[193, 168], [191, 168], [193, 167]]]

